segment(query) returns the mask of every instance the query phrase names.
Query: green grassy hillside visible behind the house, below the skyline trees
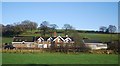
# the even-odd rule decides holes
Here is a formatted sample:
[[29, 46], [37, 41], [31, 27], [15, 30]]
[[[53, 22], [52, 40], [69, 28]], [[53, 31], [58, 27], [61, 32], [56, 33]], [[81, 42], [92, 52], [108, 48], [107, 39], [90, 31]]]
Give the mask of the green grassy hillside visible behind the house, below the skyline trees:
[[[57, 32], [57, 36], [65, 36], [64, 32], [62, 30], [59, 30]], [[102, 34], [102, 33], [81, 33], [79, 32], [79, 35], [81, 38], [88, 38], [88, 39], [92, 39], [92, 40], [99, 40], [101, 42], [109, 42], [112, 40], [117, 40], [118, 39], [118, 34]], [[33, 30], [33, 31], [27, 31], [24, 32], [22, 34], [20, 34], [19, 36], [41, 36], [41, 33], [39, 33], [38, 30]], [[50, 34], [46, 34], [46, 36], [50, 36]], [[12, 37], [3, 37], [2, 39], [2, 43], [9, 43], [12, 42]]]

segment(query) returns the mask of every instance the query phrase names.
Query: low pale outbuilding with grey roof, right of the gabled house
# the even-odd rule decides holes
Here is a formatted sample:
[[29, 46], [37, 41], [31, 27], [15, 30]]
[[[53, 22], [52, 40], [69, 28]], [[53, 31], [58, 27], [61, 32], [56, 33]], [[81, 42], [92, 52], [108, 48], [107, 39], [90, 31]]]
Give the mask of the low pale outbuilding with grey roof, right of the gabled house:
[[83, 40], [83, 43], [85, 44], [86, 47], [92, 49], [92, 50], [97, 50], [97, 49], [107, 49], [107, 44], [103, 44], [102, 42], [96, 41], [96, 40]]

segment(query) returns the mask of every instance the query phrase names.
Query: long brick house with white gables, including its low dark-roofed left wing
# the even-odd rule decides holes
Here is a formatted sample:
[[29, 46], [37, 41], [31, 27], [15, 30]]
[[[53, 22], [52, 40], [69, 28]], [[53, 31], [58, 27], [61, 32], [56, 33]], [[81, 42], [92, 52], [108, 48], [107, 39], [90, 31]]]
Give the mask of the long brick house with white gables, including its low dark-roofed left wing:
[[[33, 47], [36, 44], [37, 48], [51, 48], [51, 44], [54, 43], [56, 47], [74, 43], [72, 37], [33, 37], [33, 36], [15, 36], [13, 37], [12, 44], [16, 47]], [[34, 46], [35, 47], [35, 46]]]

